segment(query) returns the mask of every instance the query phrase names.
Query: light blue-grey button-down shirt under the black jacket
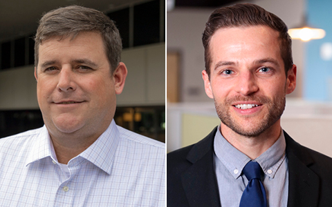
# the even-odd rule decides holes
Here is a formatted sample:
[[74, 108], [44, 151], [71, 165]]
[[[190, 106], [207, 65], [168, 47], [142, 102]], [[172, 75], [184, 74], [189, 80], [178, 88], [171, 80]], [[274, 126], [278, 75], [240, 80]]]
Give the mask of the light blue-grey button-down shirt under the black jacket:
[[[287, 206], [288, 164], [285, 150], [286, 141], [284, 132], [281, 132], [275, 144], [255, 159], [264, 171], [268, 207]], [[250, 160], [221, 135], [219, 127], [214, 137], [214, 167], [222, 207], [239, 207], [243, 190], [248, 184], [242, 170]]]

